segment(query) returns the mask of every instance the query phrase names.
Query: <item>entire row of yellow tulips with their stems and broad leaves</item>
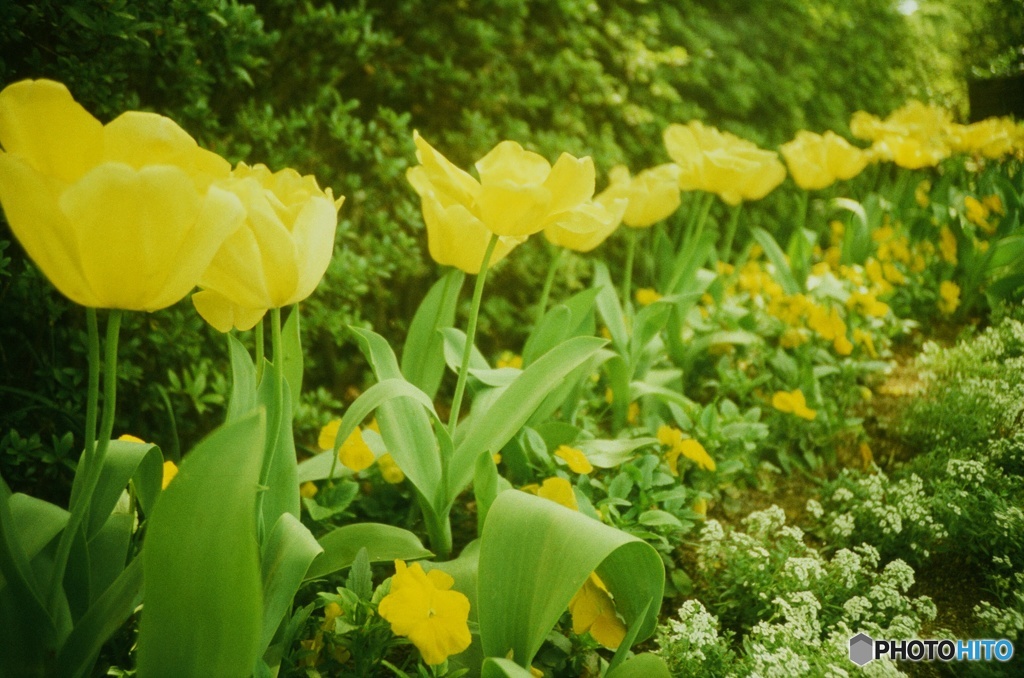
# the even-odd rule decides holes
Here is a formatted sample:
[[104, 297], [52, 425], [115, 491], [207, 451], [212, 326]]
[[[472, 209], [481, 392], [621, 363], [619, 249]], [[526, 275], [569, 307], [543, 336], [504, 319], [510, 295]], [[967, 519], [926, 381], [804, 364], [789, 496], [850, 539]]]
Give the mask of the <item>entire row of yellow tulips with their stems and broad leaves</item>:
[[[897, 136], [935, 132], [905, 118], [900, 113], [885, 123], [878, 149], [899, 147]], [[947, 136], [949, 129], [941, 127]], [[1011, 141], [999, 145], [990, 136]], [[986, 155], [1021, 147], [1020, 129], [1002, 123], [972, 127], [957, 138], [957, 147]], [[435, 672], [456, 655], [485, 675], [529, 675], [566, 608], [594, 600], [607, 613], [581, 622], [579, 632], [591, 629], [608, 640], [606, 631], [594, 630], [596, 619], [616, 629], [614, 641], [605, 643], [618, 648], [605, 666], [608, 675], [651, 675], [656, 664], [628, 661], [628, 651], [656, 624], [665, 586], [658, 553], [556, 502], [506, 492], [510, 485], [494, 455], [527, 423], [552, 417], [596, 370], [606, 370], [616, 417], [625, 420], [645, 351], [666, 328], [669, 343], [679, 344], [694, 301], [691, 283], [714, 258], [716, 239], [703, 232], [710, 198], [737, 208], [721, 245], [727, 259], [738, 206], [763, 198], [786, 176], [774, 152], [697, 122], [671, 126], [665, 141], [673, 163], [636, 176], [614, 168], [608, 187], [595, 196], [589, 158], [563, 154], [551, 165], [503, 141], [476, 163], [473, 176], [416, 135], [420, 164], [408, 177], [422, 200], [429, 251], [459, 270], [427, 295], [400, 362], [379, 335], [354, 333], [378, 383], [348, 409], [330, 452], [299, 465], [291, 428], [302, 382], [299, 313], [293, 308], [283, 326], [281, 309], [319, 282], [342, 199], [293, 170], [274, 173], [242, 163], [232, 170], [161, 116], [126, 113], [101, 125], [58, 83], [6, 88], [0, 93], [0, 202], [30, 257], [61, 293], [86, 306], [90, 358], [85, 448], [70, 511], [0, 483], [0, 611], [12, 629], [3, 647], [10, 675], [87, 673], [139, 602], [141, 675], [269, 675], [294, 640], [288, 621], [300, 586], [359, 557], [399, 561], [379, 611]], [[782, 155], [806, 188], [850, 178], [886, 157], [835, 135], [809, 133], [783, 146]], [[898, 153], [892, 157], [900, 162]], [[664, 220], [679, 208], [682, 190], [709, 199], [677, 239], [664, 297], [634, 313], [631, 238], [622, 307], [608, 296], [609, 284], [546, 312], [555, 259], [522, 369], [488, 368], [474, 337], [489, 267], [542, 230], [556, 246], [593, 250], [621, 222], [641, 228]], [[463, 272], [477, 277], [465, 334], [451, 327]], [[598, 278], [610, 283], [602, 267]], [[197, 287], [193, 302], [212, 326], [222, 332], [255, 328], [256, 356], [230, 336], [227, 421], [186, 455], [161, 491], [160, 450], [112, 439], [120, 313], [164, 308]], [[102, 361], [95, 308], [112, 309]], [[607, 326], [608, 348], [608, 341], [591, 336], [595, 308]], [[267, 310], [272, 362], [263, 354]], [[445, 363], [458, 375], [447, 422], [434, 409]], [[463, 417], [467, 388], [474, 397]], [[797, 393], [776, 408], [809, 419]], [[415, 490], [430, 551], [416, 535], [388, 525], [345, 525], [317, 540], [299, 520], [300, 483], [333, 482], [333, 451], [375, 411], [383, 443]], [[631, 442], [620, 454], [655, 442]], [[677, 457], [686, 454], [677, 447]], [[709, 458], [706, 465], [714, 462]], [[127, 507], [120, 502], [126, 488], [132, 498]], [[452, 560], [450, 515], [469, 488], [478, 539]], [[140, 554], [131, 557], [132, 545], [139, 544]], [[404, 564], [432, 555], [430, 573]], [[465, 615], [461, 599], [437, 593], [449, 588], [465, 596]], [[458, 610], [455, 627], [450, 617], [431, 621], [435, 598]], [[472, 638], [460, 626], [470, 621], [478, 629]], [[476, 665], [466, 656], [475, 656]]]

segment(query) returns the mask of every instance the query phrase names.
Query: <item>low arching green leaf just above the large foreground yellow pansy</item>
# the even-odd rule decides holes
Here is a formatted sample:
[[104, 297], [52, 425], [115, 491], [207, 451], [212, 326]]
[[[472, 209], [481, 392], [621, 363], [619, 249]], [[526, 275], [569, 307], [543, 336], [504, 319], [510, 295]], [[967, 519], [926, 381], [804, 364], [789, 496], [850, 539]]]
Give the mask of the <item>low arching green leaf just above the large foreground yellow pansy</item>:
[[419, 560], [433, 555], [420, 538], [401, 527], [376, 522], [357, 522], [328, 533], [319, 539], [324, 552], [306, 571], [306, 581], [326, 577], [352, 564], [359, 549], [371, 562]]

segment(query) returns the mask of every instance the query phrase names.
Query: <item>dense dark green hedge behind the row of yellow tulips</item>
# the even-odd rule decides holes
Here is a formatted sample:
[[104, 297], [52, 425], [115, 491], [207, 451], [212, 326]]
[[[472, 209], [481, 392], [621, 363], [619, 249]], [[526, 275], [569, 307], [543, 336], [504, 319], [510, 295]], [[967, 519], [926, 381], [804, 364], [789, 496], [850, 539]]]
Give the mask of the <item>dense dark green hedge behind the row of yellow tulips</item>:
[[[599, 184], [615, 163], [667, 162], [671, 122], [701, 118], [763, 144], [843, 131], [855, 109], [902, 102], [890, 76], [910, 55], [894, 12], [888, 0], [0, 0], [0, 85], [57, 79], [104, 121], [156, 111], [232, 162], [295, 167], [346, 196], [334, 260], [303, 308], [308, 390], [340, 397], [364, 378], [345, 325], [400, 338], [436, 277], [404, 179], [414, 129], [464, 167], [505, 138], [552, 161], [591, 155]], [[781, 198], [766, 207], [785, 213]], [[517, 345], [541, 252], [527, 244], [496, 271], [481, 328], [500, 340], [483, 345]], [[16, 245], [5, 255], [0, 431], [78, 437], [84, 389], [68, 378], [84, 379], [83, 314]], [[566, 270], [586, 279], [582, 261]], [[117, 432], [188, 449], [220, 417], [224, 341], [187, 300], [127, 325], [122, 394], [137, 407]]]

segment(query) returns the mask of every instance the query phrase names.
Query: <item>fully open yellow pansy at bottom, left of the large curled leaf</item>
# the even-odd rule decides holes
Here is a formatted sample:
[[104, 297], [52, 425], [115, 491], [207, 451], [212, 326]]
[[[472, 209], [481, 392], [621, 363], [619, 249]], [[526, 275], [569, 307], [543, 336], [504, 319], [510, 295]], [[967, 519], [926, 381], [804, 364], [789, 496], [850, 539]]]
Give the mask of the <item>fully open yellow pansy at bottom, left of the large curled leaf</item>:
[[394, 567], [391, 591], [377, 607], [392, 633], [409, 638], [430, 666], [469, 647], [469, 598], [451, 590], [455, 580], [439, 569], [425, 573], [418, 562], [395, 560]]

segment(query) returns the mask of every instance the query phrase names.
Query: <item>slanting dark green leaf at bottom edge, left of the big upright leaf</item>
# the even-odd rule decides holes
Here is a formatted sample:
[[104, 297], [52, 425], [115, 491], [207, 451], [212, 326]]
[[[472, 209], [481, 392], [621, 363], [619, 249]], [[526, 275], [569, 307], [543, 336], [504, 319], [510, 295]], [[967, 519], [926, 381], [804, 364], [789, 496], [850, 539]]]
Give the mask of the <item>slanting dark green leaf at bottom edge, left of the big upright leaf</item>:
[[135, 558], [96, 599], [68, 636], [56, 666], [65, 676], [90, 673], [103, 644], [128, 621], [142, 598], [142, 559]]

